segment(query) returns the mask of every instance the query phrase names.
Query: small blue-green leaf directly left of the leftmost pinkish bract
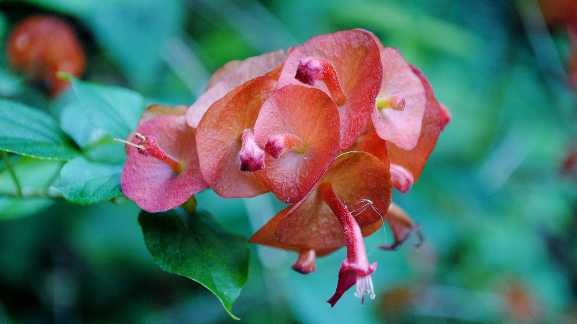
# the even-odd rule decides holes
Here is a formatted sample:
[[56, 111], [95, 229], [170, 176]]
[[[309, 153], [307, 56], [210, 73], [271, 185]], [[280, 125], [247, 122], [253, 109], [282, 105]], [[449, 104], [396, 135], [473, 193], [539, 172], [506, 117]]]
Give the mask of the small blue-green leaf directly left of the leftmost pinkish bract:
[[96, 163], [78, 157], [62, 167], [54, 189], [74, 204], [95, 204], [122, 194], [121, 173], [121, 164]]

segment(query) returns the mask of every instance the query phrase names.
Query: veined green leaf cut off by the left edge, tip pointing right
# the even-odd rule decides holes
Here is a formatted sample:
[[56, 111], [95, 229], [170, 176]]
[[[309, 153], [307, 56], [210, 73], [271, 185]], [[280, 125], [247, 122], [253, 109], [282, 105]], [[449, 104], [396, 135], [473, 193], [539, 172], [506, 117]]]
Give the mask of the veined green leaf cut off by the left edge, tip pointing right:
[[48, 160], [71, 160], [76, 145], [46, 112], [0, 99], [0, 150]]

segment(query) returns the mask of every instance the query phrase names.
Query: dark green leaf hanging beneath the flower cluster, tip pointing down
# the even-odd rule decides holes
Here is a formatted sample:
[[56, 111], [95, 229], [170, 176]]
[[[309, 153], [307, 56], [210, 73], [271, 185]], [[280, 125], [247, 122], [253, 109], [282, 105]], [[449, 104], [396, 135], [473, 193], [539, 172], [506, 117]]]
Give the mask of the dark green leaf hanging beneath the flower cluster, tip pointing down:
[[138, 223], [148, 251], [162, 270], [200, 283], [238, 319], [231, 307], [248, 276], [249, 248], [244, 236], [224, 232], [206, 212], [188, 216], [180, 208], [143, 211]]

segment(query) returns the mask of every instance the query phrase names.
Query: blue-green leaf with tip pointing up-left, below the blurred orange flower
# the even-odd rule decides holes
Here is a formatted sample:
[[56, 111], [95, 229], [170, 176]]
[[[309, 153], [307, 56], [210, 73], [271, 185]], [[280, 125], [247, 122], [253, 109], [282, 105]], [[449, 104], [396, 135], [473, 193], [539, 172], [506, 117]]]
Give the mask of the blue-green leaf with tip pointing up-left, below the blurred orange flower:
[[144, 111], [143, 98], [137, 92], [118, 86], [100, 85], [70, 77], [84, 113], [93, 126], [114, 138], [126, 138], [136, 128]]

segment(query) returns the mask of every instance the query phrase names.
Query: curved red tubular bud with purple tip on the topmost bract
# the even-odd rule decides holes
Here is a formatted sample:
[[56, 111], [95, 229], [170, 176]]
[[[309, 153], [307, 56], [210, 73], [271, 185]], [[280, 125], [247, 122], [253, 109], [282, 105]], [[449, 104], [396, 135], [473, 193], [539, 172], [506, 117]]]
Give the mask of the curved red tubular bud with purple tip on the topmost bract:
[[314, 81], [323, 81], [327, 85], [332, 100], [338, 106], [347, 102], [343, 89], [340, 88], [339, 77], [336, 75], [335, 66], [327, 59], [311, 56], [302, 58], [298, 63], [295, 79], [304, 84], [314, 85]]

